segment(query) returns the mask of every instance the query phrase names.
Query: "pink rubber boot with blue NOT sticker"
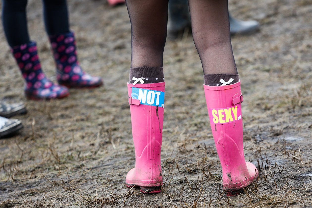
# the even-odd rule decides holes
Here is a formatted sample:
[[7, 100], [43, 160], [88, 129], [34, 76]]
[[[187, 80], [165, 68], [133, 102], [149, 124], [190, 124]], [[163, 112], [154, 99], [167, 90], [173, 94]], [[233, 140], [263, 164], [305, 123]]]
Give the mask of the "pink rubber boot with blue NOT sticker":
[[[132, 89], [133, 87], [141, 91], [135, 91], [138, 89]], [[154, 90], [154, 92], [149, 90]], [[158, 193], [163, 184], [160, 164], [163, 99], [157, 97], [157, 94], [161, 92], [163, 93], [160, 96], [164, 98], [165, 82], [136, 85], [128, 83], [135, 167], [128, 172], [126, 185], [127, 187], [139, 186], [140, 191], [144, 193]], [[154, 93], [156, 95], [153, 97]], [[159, 107], [146, 105], [148, 103], [159, 104]]]

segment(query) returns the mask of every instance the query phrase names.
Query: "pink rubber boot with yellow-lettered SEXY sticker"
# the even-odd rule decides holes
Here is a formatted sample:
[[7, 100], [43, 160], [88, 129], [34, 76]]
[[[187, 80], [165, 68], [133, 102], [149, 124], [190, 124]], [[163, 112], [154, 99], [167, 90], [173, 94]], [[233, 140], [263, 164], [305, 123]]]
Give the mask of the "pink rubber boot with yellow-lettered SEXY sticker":
[[222, 185], [236, 195], [258, 177], [257, 168], [245, 161], [241, 81], [225, 86], [204, 85], [212, 135], [222, 166]]

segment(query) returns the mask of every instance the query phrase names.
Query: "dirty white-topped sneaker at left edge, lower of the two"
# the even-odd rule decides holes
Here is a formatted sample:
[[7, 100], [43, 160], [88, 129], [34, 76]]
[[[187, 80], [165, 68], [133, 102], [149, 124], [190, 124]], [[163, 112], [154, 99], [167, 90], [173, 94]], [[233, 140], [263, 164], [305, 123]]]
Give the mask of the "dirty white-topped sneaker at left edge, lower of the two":
[[12, 135], [22, 128], [22, 121], [0, 117], [0, 138]]

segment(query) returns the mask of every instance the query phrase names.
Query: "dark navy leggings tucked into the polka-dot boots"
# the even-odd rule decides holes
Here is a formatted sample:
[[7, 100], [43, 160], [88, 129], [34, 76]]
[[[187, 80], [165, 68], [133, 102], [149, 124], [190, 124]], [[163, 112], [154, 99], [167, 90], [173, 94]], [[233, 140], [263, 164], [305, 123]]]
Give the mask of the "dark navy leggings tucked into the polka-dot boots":
[[[42, 0], [42, 2], [48, 35], [69, 32], [66, 0]], [[27, 0], [2, 0], [2, 24], [11, 47], [30, 42], [26, 6]]]

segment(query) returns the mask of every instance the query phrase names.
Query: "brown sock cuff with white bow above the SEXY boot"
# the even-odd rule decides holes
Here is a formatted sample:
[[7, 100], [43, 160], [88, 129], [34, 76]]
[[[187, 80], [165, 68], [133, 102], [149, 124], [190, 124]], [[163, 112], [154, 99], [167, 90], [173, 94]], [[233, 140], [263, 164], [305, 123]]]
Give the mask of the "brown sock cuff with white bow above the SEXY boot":
[[[230, 81], [230, 79], [233, 79]], [[223, 81], [222, 81], [222, 80]], [[227, 83], [230, 81], [230, 83]], [[231, 85], [238, 82], [238, 74], [212, 74], [212, 75], [204, 75], [204, 84], [209, 86], [221, 86], [223, 82], [225, 85]]]

